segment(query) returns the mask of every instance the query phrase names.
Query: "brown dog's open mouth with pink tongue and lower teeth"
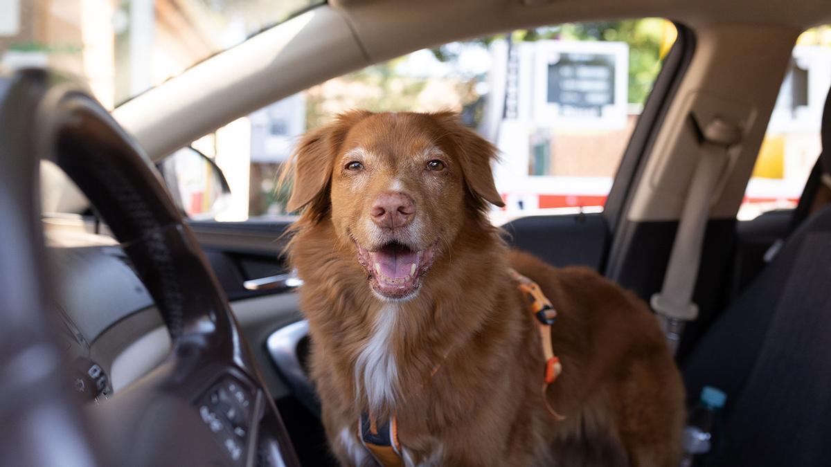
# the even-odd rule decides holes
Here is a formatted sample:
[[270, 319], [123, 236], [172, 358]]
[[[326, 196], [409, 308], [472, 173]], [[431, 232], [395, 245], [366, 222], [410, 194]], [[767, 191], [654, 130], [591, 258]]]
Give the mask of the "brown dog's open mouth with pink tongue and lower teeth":
[[403, 243], [389, 242], [369, 251], [360, 243], [356, 244], [358, 262], [369, 273], [372, 290], [386, 298], [410, 297], [418, 290], [421, 276], [433, 263], [432, 246], [415, 250]]

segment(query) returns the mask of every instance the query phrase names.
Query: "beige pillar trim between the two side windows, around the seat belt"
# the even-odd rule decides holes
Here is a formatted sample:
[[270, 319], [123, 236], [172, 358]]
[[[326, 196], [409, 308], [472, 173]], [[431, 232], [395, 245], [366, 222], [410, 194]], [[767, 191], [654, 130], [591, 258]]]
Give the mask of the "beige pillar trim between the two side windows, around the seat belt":
[[679, 219], [700, 155], [689, 121], [691, 109], [698, 106], [715, 113], [749, 114], [720, 184], [723, 192], [711, 209], [712, 218], [735, 217], [799, 32], [794, 27], [750, 26], [696, 31], [695, 56], [653, 146], [628, 219]]

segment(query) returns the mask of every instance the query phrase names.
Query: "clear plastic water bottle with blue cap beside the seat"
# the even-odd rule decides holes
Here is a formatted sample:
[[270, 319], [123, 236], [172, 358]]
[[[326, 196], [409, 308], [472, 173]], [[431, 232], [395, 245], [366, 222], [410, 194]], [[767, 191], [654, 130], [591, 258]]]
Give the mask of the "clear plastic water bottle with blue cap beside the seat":
[[727, 395], [713, 386], [704, 386], [698, 405], [690, 412], [690, 420], [684, 428], [681, 445], [684, 457], [681, 467], [706, 465], [712, 452], [717, 449], [720, 429], [720, 410], [725, 406]]

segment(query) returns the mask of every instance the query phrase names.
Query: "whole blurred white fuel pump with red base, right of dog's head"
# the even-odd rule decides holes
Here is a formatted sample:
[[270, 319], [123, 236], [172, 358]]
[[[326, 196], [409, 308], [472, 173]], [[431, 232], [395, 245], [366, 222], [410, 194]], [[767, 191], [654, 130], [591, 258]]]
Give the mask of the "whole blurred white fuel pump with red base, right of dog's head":
[[484, 124], [498, 129], [494, 176], [509, 209], [602, 206], [640, 113], [629, 106], [627, 43], [497, 42], [491, 53], [509, 63], [490, 74], [509, 97], [492, 101]]

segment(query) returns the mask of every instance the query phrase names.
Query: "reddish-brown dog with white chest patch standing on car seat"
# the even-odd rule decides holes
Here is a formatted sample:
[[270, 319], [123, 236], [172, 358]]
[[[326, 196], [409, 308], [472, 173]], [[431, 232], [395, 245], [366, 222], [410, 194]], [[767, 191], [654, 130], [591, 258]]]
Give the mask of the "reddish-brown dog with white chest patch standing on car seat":
[[[684, 396], [655, 318], [593, 271], [509, 251], [486, 215], [495, 154], [449, 112], [352, 111], [301, 141], [288, 251], [332, 450], [374, 464], [365, 415], [396, 420], [404, 465], [674, 465]], [[558, 311], [544, 397], [564, 420], [509, 268]]]

